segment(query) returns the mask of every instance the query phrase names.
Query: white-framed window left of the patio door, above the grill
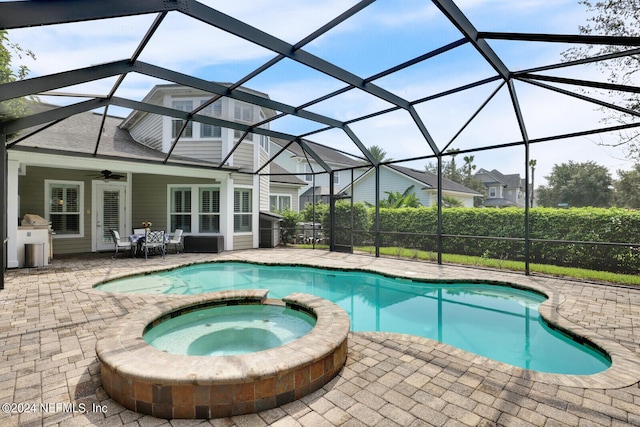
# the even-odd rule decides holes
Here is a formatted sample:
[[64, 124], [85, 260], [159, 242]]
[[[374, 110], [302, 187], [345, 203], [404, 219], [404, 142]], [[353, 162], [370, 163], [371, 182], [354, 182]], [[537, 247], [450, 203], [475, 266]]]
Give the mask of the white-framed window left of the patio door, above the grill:
[[45, 215], [57, 236], [80, 237], [84, 234], [81, 216], [84, 210], [83, 192], [82, 182], [45, 181]]

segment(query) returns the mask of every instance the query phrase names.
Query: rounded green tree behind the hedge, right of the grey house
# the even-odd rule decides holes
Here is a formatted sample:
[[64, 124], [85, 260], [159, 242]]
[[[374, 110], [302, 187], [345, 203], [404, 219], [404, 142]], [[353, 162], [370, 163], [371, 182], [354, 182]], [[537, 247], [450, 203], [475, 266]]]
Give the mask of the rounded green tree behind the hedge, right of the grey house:
[[606, 167], [588, 161], [554, 165], [545, 177], [548, 185], [537, 190], [537, 200], [545, 207], [609, 207], [613, 180]]

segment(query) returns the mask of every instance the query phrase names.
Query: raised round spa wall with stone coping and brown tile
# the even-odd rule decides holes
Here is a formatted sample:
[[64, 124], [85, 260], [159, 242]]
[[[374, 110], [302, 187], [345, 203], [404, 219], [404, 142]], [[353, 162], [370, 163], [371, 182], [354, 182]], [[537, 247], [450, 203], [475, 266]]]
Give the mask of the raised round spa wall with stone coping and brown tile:
[[[172, 299], [128, 314], [96, 344], [102, 387], [125, 408], [172, 418], [218, 418], [274, 408], [329, 382], [347, 357], [349, 316], [336, 304], [302, 293], [268, 300], [267, 290], [222, 291]], [[286, 304], [316, 317], [288, 344], [233, 356], [186, 356], [143, 340], [154, 324], [217, 305]]]

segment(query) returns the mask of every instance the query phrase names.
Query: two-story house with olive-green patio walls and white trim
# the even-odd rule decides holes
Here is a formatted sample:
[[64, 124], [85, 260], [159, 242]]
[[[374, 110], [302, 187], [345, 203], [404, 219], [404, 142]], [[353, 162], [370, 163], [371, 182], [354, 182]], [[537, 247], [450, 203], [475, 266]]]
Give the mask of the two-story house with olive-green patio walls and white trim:
[[[191, 112], [209, 99], [209, 93], [168, 84], [154, 87], [144, 101]], [[35, 114], [54, 108], [32, 106]], [[273, 112], [221, 98], [198, 114], [253, 125]], [[8, 267], [23, 262], [25, 214], [51, 222], [56, 254], [111, 250], [111, 229], [128, 236], [143, 221], [168, 232], [223, 236], [226, 250], [256, 248], [259, 212], [271, 206], [269, 176], [253, 172], [266, 163], [269, 148], [264, 135], [185, 125], [145, 111], [124, 120], [83, 112], [27, 129], [8, 141], [7, 211], [15, 218], [9, 221]], [[279, 181], [297, 191], [291, 179]]]

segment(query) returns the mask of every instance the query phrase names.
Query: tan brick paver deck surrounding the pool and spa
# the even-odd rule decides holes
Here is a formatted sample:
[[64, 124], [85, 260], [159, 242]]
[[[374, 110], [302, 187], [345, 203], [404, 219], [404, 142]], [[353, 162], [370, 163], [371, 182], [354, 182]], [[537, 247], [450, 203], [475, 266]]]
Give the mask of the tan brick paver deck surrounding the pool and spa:
[[[321, 389], [255, 414], [164, 420], [129, 411], [100, 384], [98, 338], [128, 313], [167, 298], [104, 293], [98, 282], [183, 264], [244, 260], [361, 268], [440, 280], [503, 281], [543, 290], [543, 315], [616, 353], [593, 377], [540, 375], [424, 338], [350, 333], [347, 362]], [[640, 289], [319, 250], [59, 257], [9, 270], [0, 290], [0, 426], [626, 426], [640, 425]], [[170, 369], [171, 367], [167, 367]], [[614, 369], [615, 368], [615, 369]]]

